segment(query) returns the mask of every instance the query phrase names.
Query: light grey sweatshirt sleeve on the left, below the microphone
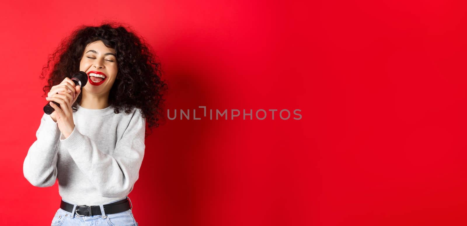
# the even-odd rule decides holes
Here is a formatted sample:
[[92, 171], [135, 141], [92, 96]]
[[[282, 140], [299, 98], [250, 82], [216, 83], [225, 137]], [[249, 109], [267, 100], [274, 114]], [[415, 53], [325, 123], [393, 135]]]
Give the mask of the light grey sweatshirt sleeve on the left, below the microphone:
[[29, 147], [23, 162], [24, 177], [36, 187], [50, 187], [57, 179], [57, 146], [60, 130], [50, 115], [42, 115], [35, 133], [36, 141]]

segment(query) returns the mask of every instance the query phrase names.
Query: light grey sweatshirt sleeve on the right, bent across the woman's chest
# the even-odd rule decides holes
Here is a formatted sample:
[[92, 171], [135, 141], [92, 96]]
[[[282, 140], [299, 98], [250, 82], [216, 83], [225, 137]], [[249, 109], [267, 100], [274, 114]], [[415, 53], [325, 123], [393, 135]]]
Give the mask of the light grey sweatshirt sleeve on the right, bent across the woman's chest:
[[75, 126], [61, 145], [78, 168], [94, 183], [103, 197], [120, 198], [133, 190], [144, 156], [146, 119], [135, 110], [122, 138], [115, 144], [113, 155], [101, 152], [96, 143]]

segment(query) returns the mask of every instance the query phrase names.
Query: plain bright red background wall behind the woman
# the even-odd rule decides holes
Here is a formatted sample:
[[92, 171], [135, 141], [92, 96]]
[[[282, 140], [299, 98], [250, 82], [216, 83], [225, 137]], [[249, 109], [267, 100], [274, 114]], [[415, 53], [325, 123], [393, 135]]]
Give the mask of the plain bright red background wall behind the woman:
[[65, 35], [103, 19], [156, 50], [166, 108], [302, 110], [301, 120], [166, 120], [129, 194], [140, 225], [467, 224], [463, 1], [0, 8], [2, 225], [48, 225], [59, 207], [57, 184], [22, 175], [46, 103], [39, 75]]

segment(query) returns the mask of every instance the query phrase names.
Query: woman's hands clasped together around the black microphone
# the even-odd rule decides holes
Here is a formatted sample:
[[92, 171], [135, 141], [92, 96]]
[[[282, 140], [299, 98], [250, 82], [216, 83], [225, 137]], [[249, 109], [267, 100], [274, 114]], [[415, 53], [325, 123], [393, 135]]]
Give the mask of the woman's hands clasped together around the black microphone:
[[75, 83], [70, 78], [65, 78], [59, 85], [52, 86], [48, 97], [45, 98], [48, 101], [55, 101], [60, 105], [59, 107], [53, 102], [50, 102], [50, 106], [55, 109], [55, 111], [50, 114], [50, 117], [57, 122], [58, 128], [65, 138], [70, 136], [75, 128], [71, 106], [76, 99], [78, 99], [80, 92], [81, 89], [79, 85], [75, 86]]

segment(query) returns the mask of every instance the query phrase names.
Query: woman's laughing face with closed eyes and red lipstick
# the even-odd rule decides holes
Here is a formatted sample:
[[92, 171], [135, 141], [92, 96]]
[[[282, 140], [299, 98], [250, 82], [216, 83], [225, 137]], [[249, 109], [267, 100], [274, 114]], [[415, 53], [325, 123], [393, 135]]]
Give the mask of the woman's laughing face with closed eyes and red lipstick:
[[108, 95], [118, 72], [115, 49], [106, 47], [100, 40], [89, 43], [79, 62], [79, 71], [88, 75], [85, 92]]

